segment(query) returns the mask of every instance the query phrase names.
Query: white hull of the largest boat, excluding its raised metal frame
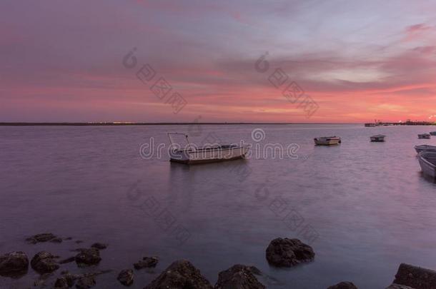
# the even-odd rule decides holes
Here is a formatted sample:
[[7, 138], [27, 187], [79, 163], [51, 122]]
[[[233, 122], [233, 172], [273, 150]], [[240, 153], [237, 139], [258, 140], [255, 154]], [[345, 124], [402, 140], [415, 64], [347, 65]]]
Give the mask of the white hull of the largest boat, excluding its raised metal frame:
[[249, 151], [247, 146], [229, 148], [200, 148], [191, 151], [172, 152], [169, 161], [195, 165], [200, 163], [217, 163], [245, 158]]

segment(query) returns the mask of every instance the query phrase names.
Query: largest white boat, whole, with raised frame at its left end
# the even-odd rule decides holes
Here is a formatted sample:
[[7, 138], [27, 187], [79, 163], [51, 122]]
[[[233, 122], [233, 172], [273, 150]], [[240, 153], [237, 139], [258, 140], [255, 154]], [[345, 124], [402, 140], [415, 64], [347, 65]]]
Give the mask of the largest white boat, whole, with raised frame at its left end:
[[[184, 136], [187, 146], [180, 146], [173, 141], [172, 136]], [[168, 133], [169, 141], [171, 142], [172, 149], [170, 150], [169, 161], [176, 163], [186, 163], [189, 165], [197, 163], [214, 163], [218, 161], [230, 161], [238, 158], [244, 158], [249, 151], [249, 146], [213, 145], [203, 146], [197, 148], [192, 143], [189, 143], [188, 136], [184, 133]]]

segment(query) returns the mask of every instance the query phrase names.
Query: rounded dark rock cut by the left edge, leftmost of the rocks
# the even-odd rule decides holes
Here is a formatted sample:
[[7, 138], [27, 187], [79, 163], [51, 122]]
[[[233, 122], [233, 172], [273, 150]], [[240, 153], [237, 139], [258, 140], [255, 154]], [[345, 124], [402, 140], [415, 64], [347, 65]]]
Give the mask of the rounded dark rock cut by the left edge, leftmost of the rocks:
[[15, 276], [26, 274], [29, 269], [29, 258], [21, 251], [0, 255], [0, 275]]

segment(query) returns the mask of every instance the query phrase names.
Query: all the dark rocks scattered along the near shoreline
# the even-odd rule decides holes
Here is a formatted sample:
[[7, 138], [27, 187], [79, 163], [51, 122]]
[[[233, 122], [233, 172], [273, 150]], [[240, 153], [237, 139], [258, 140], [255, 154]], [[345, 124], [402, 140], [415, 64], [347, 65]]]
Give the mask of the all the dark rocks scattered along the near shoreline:
[[[36, 243], [62, 243], [71, 238], [59, 238], [52, 233], [41, 233], [26, 238], [31, 244]], [[81, 241], [76, 241], [76, 244]], [[52, 284], [47, 284], [49, 279], [65, 263], [75, 262], [77, 268], [93, 268], [101, 261], [100, 251], [108, 247], [106, 243], [93, 243], [90, 248], [78, 248], [73, 250], [76, 254], [69, 258], [59, 260], [59, 256], [42, 250], [34, 255], [29, 262], [29, 257], [21, 251], [14, 251], [0, 255], [0, 276], [4, 278], [21, 278], [29, 272], [29, 266], [39, 274], [34, 281], [34, 286], [54, 289], [88, 289], [97, 285], [97, 276], [105, 273], [113, 273], [113, 270], [99, 270], [91, 273], [73, 274], [62, 270]], [[276, 268], [293, 267], [301, 263], [309, 263], [314, 260], [314, 250], [301, 240], [291, 238], [276, 238], [272, 240], [265, 250], [265, 258], [269, 265]], [[154, 268], [159, 263], [156, 256], [143, 257], [132, 264], [132, 268], [126, 268], [118, 273], [117, 280], [124, 286], [134, 284], [135, 271], [143, 268]], [[190, 289], [264, 289], [267, 288], [259, 282], [257, 276], [262, 272], [254, 266], [236, 264], [218, 274], [215, 285], [204, 278], [198, 268], [195, 268], [189, 260], [175, 260], [162, 273], [144, 289], [164, 288], [190, 288]], [[143, 285], [142, 285], [143, 286]], [[387, 289], [434, 289], [436, 288], [436, 272], [425, 268], [400, 264], [395, 275], [395, 280]], [[327, 289], [357, 289], [357, 286], [349, 281], [343, 281], [332, 285]]]

